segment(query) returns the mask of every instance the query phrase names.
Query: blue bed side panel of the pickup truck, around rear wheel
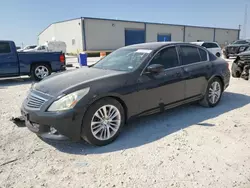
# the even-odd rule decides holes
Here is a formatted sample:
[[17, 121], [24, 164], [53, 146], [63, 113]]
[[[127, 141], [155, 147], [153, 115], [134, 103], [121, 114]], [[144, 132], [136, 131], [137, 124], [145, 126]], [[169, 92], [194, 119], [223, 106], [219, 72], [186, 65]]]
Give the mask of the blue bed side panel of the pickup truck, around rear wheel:
[[62, 63], [60, 62], [60, 52], [18, 52], [20, 74], [30, 73], [32, 64], [47, 63], [51, 66], [52, 72], [59, 71]]

